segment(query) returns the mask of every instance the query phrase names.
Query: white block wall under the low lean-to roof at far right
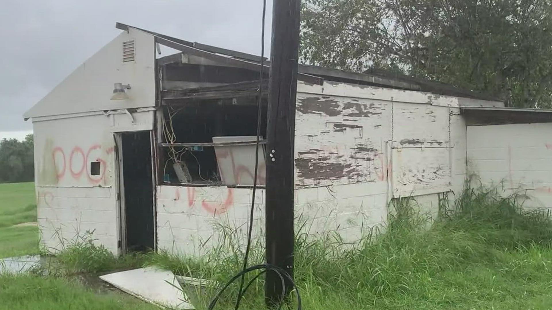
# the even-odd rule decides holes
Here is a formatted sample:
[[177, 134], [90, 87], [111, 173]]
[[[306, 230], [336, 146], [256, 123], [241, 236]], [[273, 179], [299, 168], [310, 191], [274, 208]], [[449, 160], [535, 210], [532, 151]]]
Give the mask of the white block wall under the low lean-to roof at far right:
[[468, 126], [468, 169], [486, 186], [552, 206], [552, 124]]

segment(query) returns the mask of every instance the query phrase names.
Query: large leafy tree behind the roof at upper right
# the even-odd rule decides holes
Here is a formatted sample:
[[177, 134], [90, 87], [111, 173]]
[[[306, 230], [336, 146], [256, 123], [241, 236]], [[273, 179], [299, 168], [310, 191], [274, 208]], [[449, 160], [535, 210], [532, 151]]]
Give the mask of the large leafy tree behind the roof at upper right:
[[549, 0], [304, 0], [301, 58], [550, 107], [551, 31]]

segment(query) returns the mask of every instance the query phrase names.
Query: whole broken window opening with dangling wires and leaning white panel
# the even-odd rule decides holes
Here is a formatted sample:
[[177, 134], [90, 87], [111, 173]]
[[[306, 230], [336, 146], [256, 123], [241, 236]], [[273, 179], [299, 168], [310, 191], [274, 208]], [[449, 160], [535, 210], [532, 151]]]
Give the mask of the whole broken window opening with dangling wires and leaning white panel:
[[[161, 161], [164, 184], [253, 185], [257, 98], [166, 100]], [[264, 185], [267, 100], [262, 100], [257, 184]]]

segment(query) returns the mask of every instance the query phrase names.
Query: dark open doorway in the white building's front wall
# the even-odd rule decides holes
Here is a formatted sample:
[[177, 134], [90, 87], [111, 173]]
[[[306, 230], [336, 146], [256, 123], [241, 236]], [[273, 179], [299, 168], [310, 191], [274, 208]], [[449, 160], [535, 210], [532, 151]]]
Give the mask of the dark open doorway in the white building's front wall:
[[155, 249], [149, 131], [121, 133], [126, 252]]

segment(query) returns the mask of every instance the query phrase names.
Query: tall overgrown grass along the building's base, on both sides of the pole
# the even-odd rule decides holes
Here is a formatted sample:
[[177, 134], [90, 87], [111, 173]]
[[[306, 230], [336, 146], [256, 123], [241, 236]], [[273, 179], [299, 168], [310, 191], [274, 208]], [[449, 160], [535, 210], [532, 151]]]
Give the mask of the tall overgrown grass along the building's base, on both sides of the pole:
[[[469, 186], [453, 204], [443, 196], [439, 207], [439, 217], [431, 218], [412, 198], [394, 200], [388, 223], [354, 245], [336, 233], [298, 234], [294, 272], [304, 309], [552, 308], [548, 212], [523, 209], [518, 195]], [[230, 228], [222, 231], [220, 245], [201, 258], [160, 252], [142, 263], [224, 283], [241, 269], [245, 240]], [[262, 263], [263, 255], [262, 239], [254, 240], [250, 263]], [[188, 295], [204, 309], [215, 293]], [[237, 285], [217, 307], [232, 308], [236, 295]], [[261, 307], [263, 277], [241, 306]]]

